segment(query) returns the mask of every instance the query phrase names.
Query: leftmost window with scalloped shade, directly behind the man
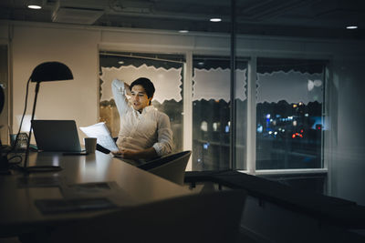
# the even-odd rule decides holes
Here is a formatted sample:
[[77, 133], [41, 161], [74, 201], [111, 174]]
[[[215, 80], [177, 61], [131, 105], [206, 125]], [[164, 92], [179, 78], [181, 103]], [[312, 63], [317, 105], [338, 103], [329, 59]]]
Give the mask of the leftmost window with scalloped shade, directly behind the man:
[[105, 122], [112, 137], [118, 137], [120, 116], [111, 94], [111, 81], [118, 78], [130, 84], [138, 77], [151, 79], [156, 88], [152, 105], [170, 117], [172, 151], [183, 150], [183, 64], [179, 55], [105, 53], [99, 55], [99, 120]]

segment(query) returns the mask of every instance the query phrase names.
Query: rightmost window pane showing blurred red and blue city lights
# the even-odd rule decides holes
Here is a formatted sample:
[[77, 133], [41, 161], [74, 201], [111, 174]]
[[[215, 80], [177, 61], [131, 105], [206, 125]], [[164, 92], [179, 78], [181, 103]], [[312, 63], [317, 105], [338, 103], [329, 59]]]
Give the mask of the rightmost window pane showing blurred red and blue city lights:
[[320, 168], [324, 63], [257, 61], [256, 169]]

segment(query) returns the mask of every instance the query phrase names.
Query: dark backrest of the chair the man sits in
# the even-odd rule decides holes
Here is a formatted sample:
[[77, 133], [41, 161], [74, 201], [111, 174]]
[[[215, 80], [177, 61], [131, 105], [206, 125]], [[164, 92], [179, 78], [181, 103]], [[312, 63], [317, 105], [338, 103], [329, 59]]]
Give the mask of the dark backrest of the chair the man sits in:
[[163, 177], [174, 183], [183, 185], [185, 168], [191, 154], [192, 151], [183, 151], [166, 157], [160, 157], [141, 165], [140, 168], [148, 170], [156, 176]]

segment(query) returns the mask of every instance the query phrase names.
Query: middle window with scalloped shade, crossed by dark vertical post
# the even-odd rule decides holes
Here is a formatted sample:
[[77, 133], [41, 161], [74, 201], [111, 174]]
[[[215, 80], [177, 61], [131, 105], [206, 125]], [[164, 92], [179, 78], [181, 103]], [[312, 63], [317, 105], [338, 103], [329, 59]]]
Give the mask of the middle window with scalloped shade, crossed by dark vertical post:
[[[230, 59], [193, 56], [193, 170], [230, 167]], [[235, 167], [245, 168], [246, 62], [236, 64]]]

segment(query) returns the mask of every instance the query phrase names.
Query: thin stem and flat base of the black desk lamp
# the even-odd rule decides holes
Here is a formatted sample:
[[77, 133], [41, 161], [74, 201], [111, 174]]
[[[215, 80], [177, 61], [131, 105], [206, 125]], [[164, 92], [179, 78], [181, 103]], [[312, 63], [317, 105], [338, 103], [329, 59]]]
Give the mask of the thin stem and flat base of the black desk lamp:
[[30, 139], [32, 137], [32, 121], [34, 119], [34, 116], [36, 114], [36, 98], [38, 96], [38, 92], [39, 92], [39, 84], [40, 82], [36, 82], [36, 95], [35, 95], [35, 100], [33, 103], [33, 111], [32, 111], [32, 117], [30, 119], [30, 129], [29, 129], [29, 137], [28, 137], [28, 141], [26, 143], [26, 157], [24, 160], [24, 172], [25, 173], [30, 173], [30, 172], [50, 172], [50, 171], [59, 171], [62, 170], [62, 167], [57, 167], [57, 166], [35, 166], [35, 167], [28, 167], [28, 158], [29, 158], [29, 145], [30, 145]]

